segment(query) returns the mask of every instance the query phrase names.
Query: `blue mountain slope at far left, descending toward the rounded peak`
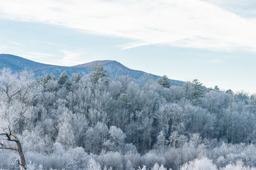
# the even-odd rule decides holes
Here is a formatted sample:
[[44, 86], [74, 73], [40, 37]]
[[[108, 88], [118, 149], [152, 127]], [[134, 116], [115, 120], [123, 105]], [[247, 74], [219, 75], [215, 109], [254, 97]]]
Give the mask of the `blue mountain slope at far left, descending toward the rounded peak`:
[[19, 56], [13, 56], [11, 54], [0, 54], [0, 68], [12, 68], [13, 72], [21, 72], [22, 70], [33, 70], [35, 68], [41, 68], [46, 66], [43, 63], [37, 63], [30, 59], [21, 58]]

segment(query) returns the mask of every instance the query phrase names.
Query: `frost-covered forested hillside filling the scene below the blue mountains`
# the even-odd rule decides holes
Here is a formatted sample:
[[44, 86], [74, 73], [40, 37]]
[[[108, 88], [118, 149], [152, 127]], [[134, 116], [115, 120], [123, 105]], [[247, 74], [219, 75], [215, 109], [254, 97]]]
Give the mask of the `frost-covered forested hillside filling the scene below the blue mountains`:
[[0, 169], [19, 168], [18, 142], [27, 169], [256, 167], [256, 95], [91, 70], [37, 81], [1, 70]]

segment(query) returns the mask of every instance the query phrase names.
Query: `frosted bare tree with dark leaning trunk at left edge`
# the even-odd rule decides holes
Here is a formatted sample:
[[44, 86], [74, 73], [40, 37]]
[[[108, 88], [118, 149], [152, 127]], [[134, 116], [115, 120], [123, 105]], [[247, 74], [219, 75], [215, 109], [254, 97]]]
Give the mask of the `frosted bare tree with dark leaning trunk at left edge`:
[[33, 73], [12, 74], [6, 68], [0, 71], [0, 149], [17, 151], [23, 169], [26, 160], [17, 130], [21, 121], [30, 116], [31, 103], [42, 90], [32, 78]]

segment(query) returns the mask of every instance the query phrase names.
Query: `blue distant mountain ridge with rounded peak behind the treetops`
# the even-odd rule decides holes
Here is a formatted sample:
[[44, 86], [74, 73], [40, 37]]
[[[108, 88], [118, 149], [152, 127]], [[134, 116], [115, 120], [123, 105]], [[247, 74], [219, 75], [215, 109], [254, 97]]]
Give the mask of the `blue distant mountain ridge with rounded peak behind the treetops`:
[[[43, 63], [38, 63], [35, 61], [31, 61], [29, 59], [24, 59], [19, 56], [13, 56], [11, 54], [0, 54], [0, 69], [3, 67], [10, 67], [13, 72], [21, 72], [22, 70], [31, 70], [35, 73], [35, 76], [45, 76], [47, 73], [55, 75], [57, 78], [60, 77], [62, 72], [67, 72], [69, 76], [72, 73], [80, 73], [81, 76], [87, 75], [90, 73], [88, 68], [93, 65], [94, 62], [85, 63], [83, 65], [76, 66], [57, 66], [57, 65], [46, 65]], [[119, 75], [130, 75], [133, 79], [139, 80], [142, 75], [147, 75], [149, 79], [153, 79], [153, 81], [157, 81], [160, 76], [153, 75], [151, 73], [142, 72], [139, 70], [132, 70], [122, 65], [117, 61], [112, 60], [102, 60], [99, 61], [100, 64], [104, 65], [105, 68], [110, 73], [111, 77], [116, 77]], [[171, 80], [171, 84], [180, 85], [183, 84], [183, 81]]]

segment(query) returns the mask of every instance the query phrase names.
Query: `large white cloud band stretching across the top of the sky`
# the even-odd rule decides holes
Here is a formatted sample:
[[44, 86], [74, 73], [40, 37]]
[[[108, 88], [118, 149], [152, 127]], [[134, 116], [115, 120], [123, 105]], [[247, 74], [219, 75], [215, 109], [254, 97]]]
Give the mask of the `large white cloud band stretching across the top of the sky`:
[[167, 44], [197, 49], [256, 51], [255, 22], [223, 10], [210, 1], [9, 0], [1, 3], [0, 17], [57, 24], [87, 33], [134, 40], [119, 45], [121, 49]]

